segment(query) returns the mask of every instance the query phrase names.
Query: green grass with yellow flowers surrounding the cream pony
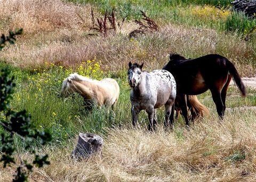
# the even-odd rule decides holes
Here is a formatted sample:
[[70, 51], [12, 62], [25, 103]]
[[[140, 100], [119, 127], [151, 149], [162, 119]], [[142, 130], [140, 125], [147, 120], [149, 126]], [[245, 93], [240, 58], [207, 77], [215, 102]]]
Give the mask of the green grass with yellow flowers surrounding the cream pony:
[[[5, 65], [2, 64], [2, 67]], [[86, 60], [74, 69], [45, 63], [45, 68], [33, 71], [21, 70], [13, 66], [10, 70], [18, 85], [10, 103], [11, 107], [15, 111], [26, 109], [31, 113], [36, 128], [49, 131], [55, 145], [62, 145], [69, 138], [74, 137], [77, 129], [79, 132], [101, 132], [102, 128], [119, 126], [126, 120], [127, 110], [130, 110], [129, 87], [126, 79], [123, 81], [116, 78], [121, 88], [119, 101], [122, 101], [122, 104], [117, 103], [116, 108], [123, 109], [117, 113], [110, 112], [109, 108], [99, 109], [96, 106], [92, 111], [88, 111], [84, 108], [83, 98], [77, 93], [66, 99], [59, 97], [61, 84], [70, 73], [77, 72], [96, 80], [109, 77], [108, 73], [102, 72], [100, 62], [97, 60]], [[122, 74], [126, 78], [127, 71]], [[23, 146], [22, 143], [19, 145]], [[36, 146], [37, 144], [33, 144], [33, 148]]]

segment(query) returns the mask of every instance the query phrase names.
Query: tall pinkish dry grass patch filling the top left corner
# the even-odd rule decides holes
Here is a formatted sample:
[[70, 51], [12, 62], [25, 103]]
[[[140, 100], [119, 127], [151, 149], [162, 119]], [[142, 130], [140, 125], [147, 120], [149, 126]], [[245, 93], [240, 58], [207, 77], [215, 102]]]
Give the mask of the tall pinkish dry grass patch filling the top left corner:
[[23, 28], [29, 36], [56, 28], [77, 28], [76, 24], [81, 22], [77, 14], [90, 16], [90, 8], [65, 4], [60, 0], [3, 0], [0, 8], [0, 21], [5, 21], [4, 30]]

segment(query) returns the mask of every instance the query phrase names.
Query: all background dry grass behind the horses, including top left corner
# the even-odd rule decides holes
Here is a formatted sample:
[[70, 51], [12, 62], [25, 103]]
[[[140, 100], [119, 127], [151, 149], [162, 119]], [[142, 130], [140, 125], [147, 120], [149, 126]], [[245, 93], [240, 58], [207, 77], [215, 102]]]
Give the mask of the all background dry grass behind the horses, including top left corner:
[[128, 34], [138, 25], [126, 21], [116, 33], [97, 36], [97, 32], [90, 30], [88, 5], [65, 4], [60, 0], [5, 0], [0, 2], [0, 8], [0, 22], [7, 22], [2, 26], [25, 29], [17, 44], [5, 48], [0, 57], [19, 67], [34, 69], [43, 67], [45, 62], [76, 67], [83, 60], [95, 58], [110, 71], [126, 68], [130, 60], [146, 62], [148, 68], [161, 68], [170, 52], [190, 58], [217, 53], [235, 63], [243, 76], [256, 74], [255, 46], [231, 34], [165, 24], [158, 32], [129, 40]]

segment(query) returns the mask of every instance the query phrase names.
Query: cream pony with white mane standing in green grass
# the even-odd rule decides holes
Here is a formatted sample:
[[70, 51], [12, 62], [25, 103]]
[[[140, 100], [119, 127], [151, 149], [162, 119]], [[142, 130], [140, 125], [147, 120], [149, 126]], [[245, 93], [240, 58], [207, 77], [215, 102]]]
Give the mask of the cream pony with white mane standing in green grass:
[[73, 92], [79, 93], [89, 108], [93, 100], [100, 107], [102, 105], [114, 107], [119, 98], [119, 85], [114, 79], [98, 81], [73, 73], [63, 81], [61, 96], [66, 98]]

